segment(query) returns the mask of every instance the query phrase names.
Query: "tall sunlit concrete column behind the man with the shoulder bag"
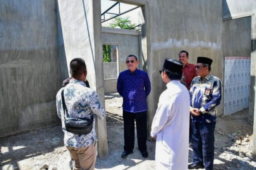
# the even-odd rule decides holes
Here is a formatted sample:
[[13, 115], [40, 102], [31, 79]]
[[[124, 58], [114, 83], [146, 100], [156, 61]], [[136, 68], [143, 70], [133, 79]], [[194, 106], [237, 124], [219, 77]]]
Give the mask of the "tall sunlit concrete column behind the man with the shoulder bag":
[[[75, 57], [85, 60], [90, 87], [98, 93], [105, 107], [100, 0], [57, 0], [57, 2], [66, 63], [69, 64]], [[96, 120], [96, 124], [99, 138], [98, 153], [100, 157], [106, 157], [108, 155], [106, 119]]]

